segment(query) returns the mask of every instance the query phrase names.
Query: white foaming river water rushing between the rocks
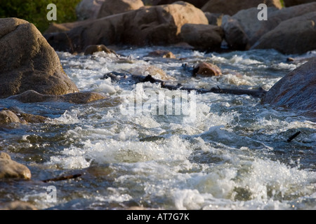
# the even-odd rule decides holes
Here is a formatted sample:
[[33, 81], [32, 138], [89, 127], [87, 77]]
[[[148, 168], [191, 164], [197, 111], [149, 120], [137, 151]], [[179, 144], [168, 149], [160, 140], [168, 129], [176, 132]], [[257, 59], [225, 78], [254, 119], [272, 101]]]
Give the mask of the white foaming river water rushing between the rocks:
[[[195, 95], [192, 120], [184, 114], [122, 113], [126, 93], [138, 90], [147, 99], [148, 91], [171, 90], [101, 79], [110, 71], [142, 73], [154, 65], [173, 85], [269, 90], [304, 61], [289, 63], [289, 55], [274, 50], [168, 48], [182, 59], [145, 57], [156, 49], [126, 48], [117, 51], [120, 57], [58, 52], [79, 90], [101, 92], [106, 100], [76, 105], [0, 99], [2, 107], [51, 118], [0, 127], [0, 151], [32, 172], [31, 181], [2, 180], [0, 202], [22, 200], [38, 209], [316, 209], [316, 128], [308, 118], [248, 95], [214, 93]], [[212, 62], [224, 74], [192, 78], [182, 64], [197, 62]], [[70, 174], [81, 176], [42, 182]], [[56, 202], [47, 200], [48, 186], [55, 186]]]

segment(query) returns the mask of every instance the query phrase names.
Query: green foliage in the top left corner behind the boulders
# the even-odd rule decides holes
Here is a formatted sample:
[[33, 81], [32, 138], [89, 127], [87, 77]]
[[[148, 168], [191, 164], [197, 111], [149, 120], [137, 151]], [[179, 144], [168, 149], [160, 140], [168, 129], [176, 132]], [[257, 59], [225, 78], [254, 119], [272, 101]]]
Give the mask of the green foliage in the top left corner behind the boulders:
[[[76, 6], [81, 0], [0, 0], [0, 18], [19, 18], [32, 22], [44, 32], [52, 22], [73, 22], [77, 20]], [[57, 21], [46, 18], [49, 3], [57, 7]]]

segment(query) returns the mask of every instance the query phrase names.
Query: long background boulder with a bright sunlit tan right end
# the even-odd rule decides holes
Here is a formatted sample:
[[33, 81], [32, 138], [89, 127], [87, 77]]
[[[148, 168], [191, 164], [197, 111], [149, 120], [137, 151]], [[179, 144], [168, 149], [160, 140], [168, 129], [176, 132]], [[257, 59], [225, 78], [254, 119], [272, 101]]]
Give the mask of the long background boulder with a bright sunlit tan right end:
[[186, 23], [208, 25], [209, 21], [199, 8], [177, 1], [90, 20], [67, 32], [46, 34], [46, 38], [55, 50], [77, 52], [98, 44], [169, 45], [180, 41]]

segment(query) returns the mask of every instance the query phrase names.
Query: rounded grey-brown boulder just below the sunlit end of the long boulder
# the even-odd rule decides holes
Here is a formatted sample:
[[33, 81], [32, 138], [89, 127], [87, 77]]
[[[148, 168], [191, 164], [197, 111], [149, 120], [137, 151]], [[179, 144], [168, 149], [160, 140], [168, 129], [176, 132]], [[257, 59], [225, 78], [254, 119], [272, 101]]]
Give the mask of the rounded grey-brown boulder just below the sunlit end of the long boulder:
[[197, 50], [218, 50], [223, 41], [224, 31], [221, 27], [202, 24], [185, 24], [181, 28], [182, 40]]

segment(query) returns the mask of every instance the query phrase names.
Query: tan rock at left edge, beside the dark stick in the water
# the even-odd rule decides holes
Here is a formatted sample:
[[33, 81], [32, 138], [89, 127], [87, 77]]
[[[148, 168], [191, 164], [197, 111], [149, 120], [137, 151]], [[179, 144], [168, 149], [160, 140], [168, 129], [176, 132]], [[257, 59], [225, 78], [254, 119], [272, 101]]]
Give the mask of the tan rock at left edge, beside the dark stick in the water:
[[0, 153], [0, 179], [17, 178], [17, 179], [31, 179], [31, 172], [29, 168], [18, 162], [11, 160], [7, 153]]

